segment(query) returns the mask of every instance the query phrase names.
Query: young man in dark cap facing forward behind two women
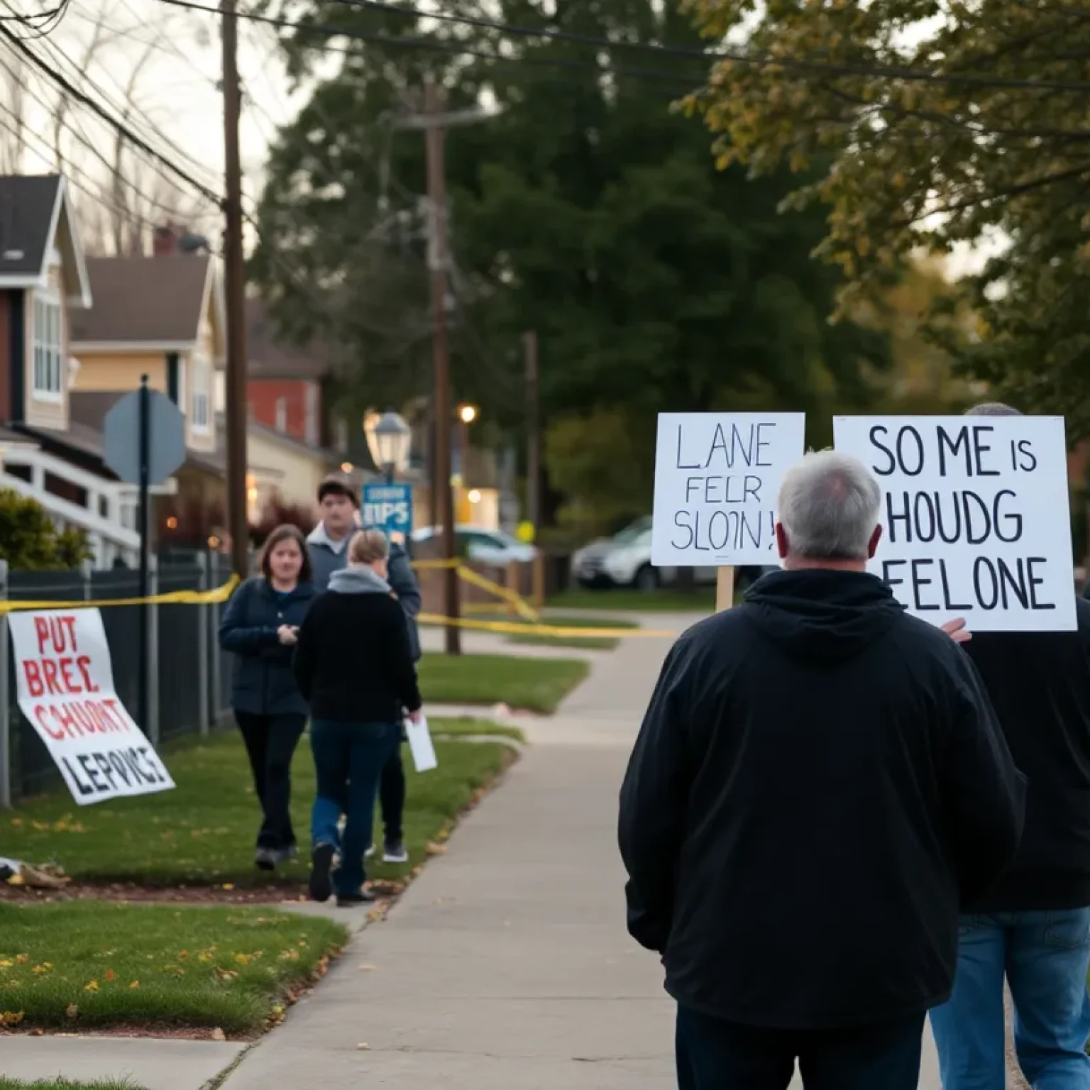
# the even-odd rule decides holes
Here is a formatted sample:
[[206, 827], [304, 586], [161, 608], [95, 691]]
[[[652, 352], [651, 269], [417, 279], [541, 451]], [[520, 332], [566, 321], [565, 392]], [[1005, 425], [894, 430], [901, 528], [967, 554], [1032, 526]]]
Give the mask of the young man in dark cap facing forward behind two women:
[[[343, 569], [348, 562], [348, 542], [358, 529], [355, 492], [343, 477], [328, 476], [318, 486], [318, 507], [322, 510], [322, 521], [311, 532], [306, 543], [311, 549], [314, 585], [317, 590], [323, 591], [329, 584], [334, 572]], [[413, 574], [409, 555], [397, 542], [390, 543], [386, 571], [390, 589], [404, 611], [405, 623], [409, 628], [409, 645], [412, 650], [413, 662], [417, 663], [421, 657], [421, 646], [415, 618], [421, 609], [420, 584]], [[400, 746], [393, 748], [383, 768], [378, 798], [384, 826], [383, 861], [405, 863], [409, 861], [402, 827], [405, 807], [405, 772], [401, 761]], [[374, 845], [372, 845], [367, 849], [367, 855], [374, 855], [375, 850]]]

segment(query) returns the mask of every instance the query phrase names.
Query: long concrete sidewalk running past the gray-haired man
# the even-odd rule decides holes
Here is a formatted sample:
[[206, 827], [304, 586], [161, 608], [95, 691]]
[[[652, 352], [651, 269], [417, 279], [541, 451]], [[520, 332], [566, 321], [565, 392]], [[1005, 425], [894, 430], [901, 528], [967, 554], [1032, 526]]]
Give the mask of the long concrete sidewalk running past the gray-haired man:
[[[662, 627], [692, 618], [656, 616]], [[662, 1090], [674, 1008], [628, 937], [617, 789], [668, 644], [625, 641], [227, 1090]], [[929, 1046], [921, 1088], [937, 1090]], [[195, 1090], [195, 1088], [194, 1088]]]

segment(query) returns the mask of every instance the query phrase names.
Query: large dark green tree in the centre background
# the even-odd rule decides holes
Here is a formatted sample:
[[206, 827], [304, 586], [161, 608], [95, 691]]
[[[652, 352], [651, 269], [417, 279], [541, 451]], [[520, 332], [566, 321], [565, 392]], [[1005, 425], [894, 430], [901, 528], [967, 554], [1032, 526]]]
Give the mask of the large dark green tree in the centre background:
[[[491, 19], [512, 24], [699, 45], [654, 0], [494, 7]], [[469, 2], [444, 11], [479, 13]], [[423, 16], [413, 25], [336, 2], [290, 12], [385, 39], [343, 39], [339, 71], [316, 82], [281, 131], [252, 265], [283, 330], [343, 347], [361, 402], [399, 401], [429, 382], [424, 147], [419, 131], [400, 126], [419, 110], [427, 73], [447, 88], [449, 109], [493, 109], [447, 137], [456, 392], [518, 431], [518, 346], [536, 329], [554, 484], [627, 473], [626, 494], [646, 509], [659, 410], [818, 414], [867, 402], [885, 338], [827, 323], [840, 274], [809, 257], [823, 214], [779, 213], [794, 184], [786, 171], [753, 185], [740, 168], [715, 170], [701, 126], [671, 110], [693, 86], [690, 60], [656, 58], [649, 76], [623, 49]], [[452, 52], [395, 47], [396, 36]], [[322, 40], [292, 37], [293, 72], [312, 71]], [[601, 441], [600, 426], [625, 437], [625, 453]], [[580, 435], [593, 441], [576, 457], [565, 446]], [[598, 506], [602, 492], [571, 495], [569, 513]]]

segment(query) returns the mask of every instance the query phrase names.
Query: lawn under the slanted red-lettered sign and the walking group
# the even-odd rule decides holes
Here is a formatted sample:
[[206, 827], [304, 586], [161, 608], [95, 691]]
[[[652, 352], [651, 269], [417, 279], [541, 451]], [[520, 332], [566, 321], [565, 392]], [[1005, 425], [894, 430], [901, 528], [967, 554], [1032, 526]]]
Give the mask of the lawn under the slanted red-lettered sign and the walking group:
[[[437, 719], [432, 727], [437, 735], [495, 730], [492, 724], [474, 720], [468, 720], [473, 723], [468, 730], [463, 722]], [[437, 741], [439, 766], [417, 774], [405, 749], [404, 834], [410, 860], [404, 865], [368, 863], [373, 879], [404, 877], [424, 862], [427, 845], [510, 760], [510, 747], [502, 742]], [[27, 862], [59, 863], [83, 882], [268, 885], [269, 875], [253, 864], [259, 811], [238, 732], [168, 747], [165, 759], [177, 790], [93, 807], [77, 807], [61, 790], [0, 814], [3, 853]], [[314, 764], [304, 738], [292, 770], [292, 816], [304, 858], [279, 868], [277, 882], [306, 880], [313, 798]]]

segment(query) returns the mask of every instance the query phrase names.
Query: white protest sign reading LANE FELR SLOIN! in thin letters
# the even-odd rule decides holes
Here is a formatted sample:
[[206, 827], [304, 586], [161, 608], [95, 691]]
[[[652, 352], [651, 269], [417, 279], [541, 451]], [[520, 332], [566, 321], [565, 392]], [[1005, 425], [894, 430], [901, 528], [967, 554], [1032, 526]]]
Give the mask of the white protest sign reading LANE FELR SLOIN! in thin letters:
[[803, 413], [659, 413], [651, 562], [776, 564], [776, 495]]

